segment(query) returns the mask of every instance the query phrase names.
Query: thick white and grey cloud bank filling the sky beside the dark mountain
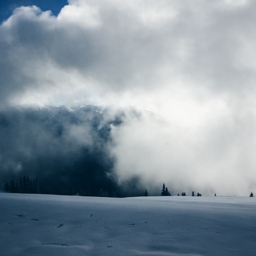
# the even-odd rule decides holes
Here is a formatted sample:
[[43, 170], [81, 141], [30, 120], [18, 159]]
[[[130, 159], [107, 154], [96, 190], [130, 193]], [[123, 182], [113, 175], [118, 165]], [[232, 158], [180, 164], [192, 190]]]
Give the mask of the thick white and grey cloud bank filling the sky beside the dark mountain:
[[256, 189], [255, 5], [70, 0], [57, 17], [17, 8], [0, 26], [0, 102], [147, 109], [155, 115], [111, 128], [119, 182], [247, 195]]

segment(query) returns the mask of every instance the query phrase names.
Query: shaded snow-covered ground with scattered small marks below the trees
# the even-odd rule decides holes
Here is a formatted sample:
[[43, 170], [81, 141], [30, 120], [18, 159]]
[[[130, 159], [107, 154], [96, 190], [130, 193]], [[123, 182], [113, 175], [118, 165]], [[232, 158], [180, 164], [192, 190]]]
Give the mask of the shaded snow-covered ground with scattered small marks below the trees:
[[0, 255], [256, 255], [256, 198], [0, 194]]

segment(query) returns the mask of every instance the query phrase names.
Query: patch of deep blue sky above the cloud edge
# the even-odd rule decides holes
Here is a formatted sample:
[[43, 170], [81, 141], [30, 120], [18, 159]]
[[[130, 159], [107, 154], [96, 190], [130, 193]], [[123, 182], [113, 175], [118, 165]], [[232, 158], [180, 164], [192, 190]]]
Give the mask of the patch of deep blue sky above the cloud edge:
[[43, 0], [1, 0], [0, 1], [0, 21], [6, 20], [12, 11], [20, 6], [36, 5], [42, 11], [51, 10], [54, 15], [58, 15], [61, 8], [67, 4], [67, 0], [43, 1]]

